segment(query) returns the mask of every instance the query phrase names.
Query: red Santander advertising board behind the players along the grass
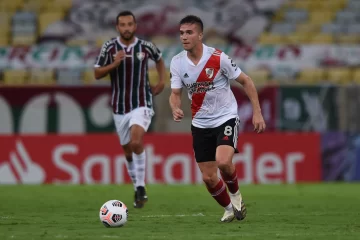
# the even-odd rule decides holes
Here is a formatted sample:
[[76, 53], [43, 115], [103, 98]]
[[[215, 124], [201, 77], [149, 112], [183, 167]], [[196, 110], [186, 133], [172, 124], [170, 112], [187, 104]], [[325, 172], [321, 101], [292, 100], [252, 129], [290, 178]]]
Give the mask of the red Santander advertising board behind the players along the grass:
[[[149, 184], [202, 183], [190, 134], [145, 138]], [[318, 133], [241, 134], [233, 161], [243, 184], [319, 182]], [[0, 136], [0, 184], [130, 183], [115, 134]]]

